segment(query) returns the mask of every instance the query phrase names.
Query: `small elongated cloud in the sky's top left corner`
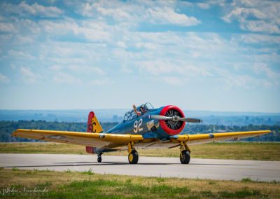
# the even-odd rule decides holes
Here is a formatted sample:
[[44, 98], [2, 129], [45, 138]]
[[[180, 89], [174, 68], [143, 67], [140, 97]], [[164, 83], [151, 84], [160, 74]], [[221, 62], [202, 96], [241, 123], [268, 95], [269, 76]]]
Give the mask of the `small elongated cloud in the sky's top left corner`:
[[26, 1], [20, 2], [18, 5], [4, 4], [7, 13], [16, 13], [18, 15], [36, 15], [40, 17], [58, 17], [64, 11], [60, 10], [55, 6], [42, 6], [38, 3], [29, 5]]

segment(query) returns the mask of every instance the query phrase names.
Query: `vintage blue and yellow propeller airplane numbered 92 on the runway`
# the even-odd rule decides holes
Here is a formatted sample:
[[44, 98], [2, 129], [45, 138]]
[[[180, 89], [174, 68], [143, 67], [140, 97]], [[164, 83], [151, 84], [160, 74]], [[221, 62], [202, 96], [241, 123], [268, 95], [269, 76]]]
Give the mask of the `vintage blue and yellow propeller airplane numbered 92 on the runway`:
[[[85, 146], [87, 153], [97, 153], [97, 161], [102, 162], [102, 154], [110, 151], [128, 152], [128, 162], [137, 164], [137, 149], [179, 147], [182, 164], [190, 163], [190, 148], [195, 144], [237, 140], [265, 135], [270, 130], [247, 132], [223, 132], [199, 135], [179, 135], [187, 123], [201, 123], [197, 118], [185, 118], [183, 111], [168, 105], [154, 109], [150, 103], [127, 111], [123, 122], [104, 132], [93, 111], [88, 115], [87, 132], [55, 130], [18, 129], [14, 137], [39, 139], [48, 142], [77, 144]], [[207, 153], [207, 152], [206, 152]]]

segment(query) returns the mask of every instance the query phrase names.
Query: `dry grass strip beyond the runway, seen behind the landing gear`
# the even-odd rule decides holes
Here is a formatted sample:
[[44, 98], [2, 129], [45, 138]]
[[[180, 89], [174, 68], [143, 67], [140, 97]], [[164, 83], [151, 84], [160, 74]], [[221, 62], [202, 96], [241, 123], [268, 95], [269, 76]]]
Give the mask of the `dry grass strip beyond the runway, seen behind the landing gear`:
[[[280, 143], [216, 142], [190, 146], [192, 158], [235, 160], [280, 160]], [[179, 148], [138, 149], [139, 156], [179, 157]], [[68, 153], [88, 154], [85, 146], [45, 142], [0, 143], [0, 153]], [[106, 153], [127, 156], [127, 151]]]

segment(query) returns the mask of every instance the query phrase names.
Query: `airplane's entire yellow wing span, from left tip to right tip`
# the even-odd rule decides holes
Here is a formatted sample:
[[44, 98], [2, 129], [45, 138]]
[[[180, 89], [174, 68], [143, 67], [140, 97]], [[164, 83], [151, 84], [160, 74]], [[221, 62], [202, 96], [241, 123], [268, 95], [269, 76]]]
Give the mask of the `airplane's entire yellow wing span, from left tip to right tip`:
[[174, 138], [161, 142], [159, 139], [144, 139], [142, 135], [124, 135], [124, 134], [106, 134], [92, 132], [70, 132], [54, 130], [25, 130], [18, 129], [13, 132], [14, 137], [23, 137], [28, 139], [39, 139], [48, 142], [60, 142], [67, 144], [77, 144], [83, 146], [94, 146], [104, 149], [116, 149], [120, 146], [127, 146], [129, 142], [134, 142], [136, 146], [172, 148], [179, 146], [179, 142], [186, 142], [188, 145], [205, 144], [209, 142], [220, 142], [232, 139], [241, 139], [246, 137], [256, 137], [265, 135], [270, 130], [247, 131], [247, 132], [223, 132], [200, 135], [178, 135]]

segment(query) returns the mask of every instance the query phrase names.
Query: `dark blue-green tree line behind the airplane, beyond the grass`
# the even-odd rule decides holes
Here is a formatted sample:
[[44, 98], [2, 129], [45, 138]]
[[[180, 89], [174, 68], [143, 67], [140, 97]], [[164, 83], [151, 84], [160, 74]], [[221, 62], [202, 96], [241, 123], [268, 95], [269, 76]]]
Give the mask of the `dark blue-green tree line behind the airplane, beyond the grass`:
[[[104, 131], [113, 128], [118, 123], [101, 123]], [[36, 139], [25, 139], [12, 137], [11, 134], [17, 129], [38, 129], [38, 130], [66, 130], [86, 132], [87, 123], [70, 122], [47, 122], [47, 121], [0, 121], [0, 142], [40, 142]], [[248, 142], [280, 142], [280, 125], [186, 125], [181, 134], [200, 134], [214, 132], [235, 132], [252, 130], [271, 130], [268, 135], [242, 139]]]

